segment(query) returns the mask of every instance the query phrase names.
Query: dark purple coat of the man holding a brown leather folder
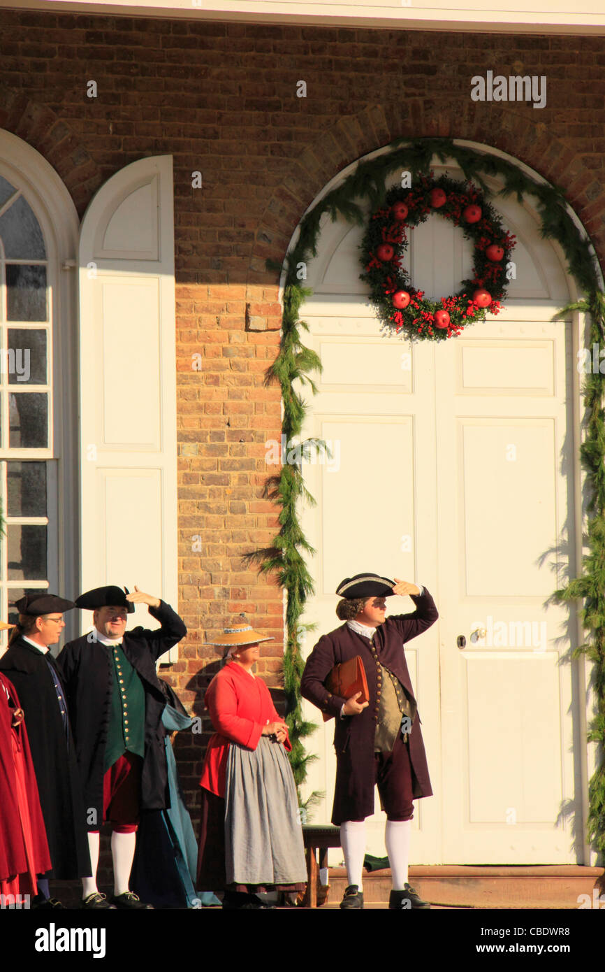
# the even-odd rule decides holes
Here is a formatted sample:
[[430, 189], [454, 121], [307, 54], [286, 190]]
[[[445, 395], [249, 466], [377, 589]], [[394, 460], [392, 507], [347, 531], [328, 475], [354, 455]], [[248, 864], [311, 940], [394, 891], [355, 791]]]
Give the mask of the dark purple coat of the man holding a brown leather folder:
[[[374, 636], [380, 662], [396, 676], [406, 694], [414, 699], [414, 690], [405, 660], [404, 642], [416, 638], [434, 624], [439, 614], [435, 602], [424, 593], [412, 597], [417, 608], [411, 614], [393, 614], [379, 625]], [[369, 706], [358, 715], [340, 717], [345, 699], [330, 695], [323, 682], [339, 662], [360, 655], [365, 668], [370, 693]], [[336, 717], [334, 748], [336, 749], [336, 790], [332, 823], [360, 820], [374, 813], [374, 736], [378, 715], [376, 710], [376, 663], [368, 640], [357, 635], [348, 624], [323, 635], [307, 659], [300, 689], [305, 699], [313, 702], [321, 712]], [[415, 700], [416, 701], [416, 700]], [[426, 765], [426, 754], [417, 712], [410, 733], [410, 760], [414, 769], [414, 796], [431, 796], [432, 789]]]

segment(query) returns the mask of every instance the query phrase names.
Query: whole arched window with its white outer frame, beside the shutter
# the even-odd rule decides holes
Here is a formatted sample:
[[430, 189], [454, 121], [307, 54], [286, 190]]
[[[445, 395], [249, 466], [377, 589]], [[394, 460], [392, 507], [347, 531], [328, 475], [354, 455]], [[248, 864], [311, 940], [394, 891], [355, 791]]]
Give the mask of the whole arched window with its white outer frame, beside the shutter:
[[[0, 129], [3, 620], [17, 619], [14, 605], [23, 593], [77, 593], [77, 241], [76, 209], [54, 169]], [[71, 628], [77, 618], [66, 621]]]

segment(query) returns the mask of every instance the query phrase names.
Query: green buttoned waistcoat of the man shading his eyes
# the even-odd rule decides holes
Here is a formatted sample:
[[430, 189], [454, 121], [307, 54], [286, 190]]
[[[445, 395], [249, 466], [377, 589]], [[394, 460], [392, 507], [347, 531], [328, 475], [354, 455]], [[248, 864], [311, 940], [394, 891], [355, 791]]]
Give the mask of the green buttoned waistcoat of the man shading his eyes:
[[143, 682], [126, 658], [121, 645], [108, 645], [107, 650], [112, 652], [114, 661], [114, 684], [104, 770], [109, 770], [126, 749], [137, 756], [145, 754]]

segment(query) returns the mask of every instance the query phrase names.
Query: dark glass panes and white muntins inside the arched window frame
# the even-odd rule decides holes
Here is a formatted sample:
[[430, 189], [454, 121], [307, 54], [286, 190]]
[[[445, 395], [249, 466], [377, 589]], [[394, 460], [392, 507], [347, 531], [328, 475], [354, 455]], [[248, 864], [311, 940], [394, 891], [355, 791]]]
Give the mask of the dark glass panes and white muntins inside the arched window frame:
[[[47, 246], [22, 188], [0, 175], [2, 616], [56, 579]], [[50, 509], [50, 503], [53, 508]], [[50, 536], [52, 535], [52, 536]], [[13, 618], [12, 618], [13, 619]]]

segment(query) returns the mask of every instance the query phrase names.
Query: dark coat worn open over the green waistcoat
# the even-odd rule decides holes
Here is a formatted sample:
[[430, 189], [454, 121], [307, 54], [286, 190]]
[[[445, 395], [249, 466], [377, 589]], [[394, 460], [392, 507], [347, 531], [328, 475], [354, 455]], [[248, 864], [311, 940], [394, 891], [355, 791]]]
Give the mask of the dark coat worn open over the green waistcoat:
[[[161, 724], [166, 704], [155, 674], [155, 662], [186, 635], [179, 615], [163, 601], [150, 614], [161, 623], [156, 631], [138, 627], [124, 632], [122, 649], [138, 672], [145, 689], [145, 757], [141, 781], [141, 809], [163, 810], [170, 806], [168, 775]], [[65, 645], [57, 664], [65, 682], [76, 741], [78, 765], [84, 786], [89, 830], [103, 822], [103, 775], [105, 746], [112, 702], [114, 666], [112, 652], [88, 635]]]

